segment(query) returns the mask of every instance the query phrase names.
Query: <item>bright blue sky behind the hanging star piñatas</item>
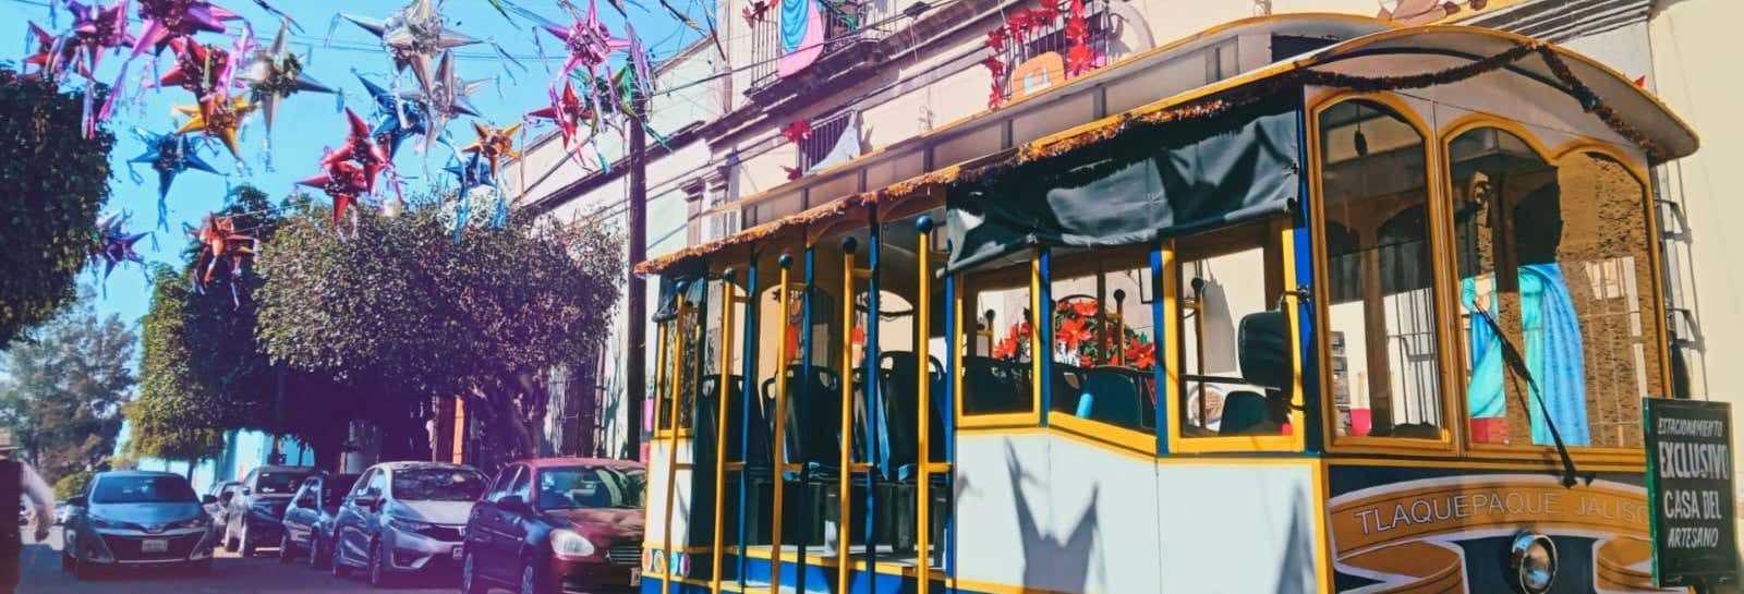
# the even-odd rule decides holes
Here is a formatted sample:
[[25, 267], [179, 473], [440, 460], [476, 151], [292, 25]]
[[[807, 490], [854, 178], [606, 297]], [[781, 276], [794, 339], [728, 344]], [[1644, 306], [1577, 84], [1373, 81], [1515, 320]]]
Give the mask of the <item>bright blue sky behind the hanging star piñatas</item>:
[[[110, 0], [106, 3], [115, 2], [117, 0]], [[673, 7], [678, 7], [692, 16], [701, 16], [705, 10], [710, 10], [713, 3], [713, 0], [670, 2]], [[0, 35], [0, 38], [23, 40], [26, 37], [24, 21], [35, 21], [38, 26], [47, 28], [52, 33], [66, 30], [72, 16], [61, 10], [56, 16], [58, 21], [54, 26], [51, 26], [47, 3], [47, 0], [0, 0], [0, 23], [16, 26], [16, 37]], [[242, 17], [255, 26], [255, 35], [260, 38], [262, 45], [270, 44], [272, 37], [279, 30], [277, 17], [270, 16], [251, 0], [216, 0], [215, 3], [242, 14]], [[354, 108], [359, 115], [368, 117], [371, 101], [363, 91], [363, 84], [358, 82], [354, 71], [375, 80], [377, 84], [387, 85], [389, 78], [394, 75], [392, 61], [380, 51], [380, 44], [373, 35], [344, 21], [333, 26], [333, 17], [338, 12], [387, 17], [401, 9], [405, 2], [274, 0], [272, 3], [290, 12], [290, 16], [295, 17], [303, 28], [300, 35], [293, 31], [291, 51], [300, 57], [305, 57], [305, 71], [328, 87], [342, 89], [344, 103]], [[546, 19], [569, 23], [567, 14], [556, 5], [555, 0], [518, 0], [518, 3], [544, 16]], [[586, 7], [581, 0], [577, 0], [577, 5], [582, 9]], [[659, 3], [654, 0], [649, 0], [645, 7], [630, 5], [628, 10], [631, 24], [656, 59], [671, 56], [685, 44], [698, 38], [696, 31], [685, 28], [675, 17], [663, 12]], [[495, 80], [490, 87], [473, 96], [473, 105], [485, 115], [485, 120], [494, 125], [508, 125], [521, 120], [523, 113], [548, 103], [546, 85], [555, 77], [555, 70], [562, 64], [562, 44], [555, 37], [539, 31], [541, 38], [535, 45], [530, 21], [516, 17], [509, 23], [485, 0], [448, 0], [445, 2], [441, 12], [448, 17], [450, 28], [474, 38], [495, 42], [504, 52], [511, 54], [525, 66], [525, 70], [521, 70], [508, 59], [495, 56], [497, 52], [487, 44], [469, 45], [457, 51], [459, 59], [455, 63], [455, 70], [462, 80]], [[603, 0], [600, 2], [600, 17], [614, 33], [623, 33], [624, 19], [617, 16], [617, 12], [612, 10]], [[698, 17], [698, 21], [701, 21], [701, 17]], [[138, 21], [134, 21], [133, 26], [134, 31], [138, 31]], [[331, 44], [328, 44], [330, 26], [333, 31]], [[232, 24], [232, 33], [239, 30], [239, 26]], [[201, 33], [197, 38], [202, 44], [218, 44], [220, 47], [230, 45], [228, 37], [216, 33]], [[542, 63], [541, 51], [544, 54]], [[16, 64], [24, 54], [24, 44], [0, 44], [0, 61], [3, 63]], [[129, 85], [136, 84], [134, 80], [140, 78], [143, 61], [145, 57], [129, 68]], [[159, 66], [169, 68], [171, 61], [173, 56], [166, 51], [164, 56], [159, 57]], [[98, 71], [98, 80], [113, 80], [120, 71], [120, 56], [105, 56], [103, 66]], [[399, 80], [405, 89], [417, 87], [410, 71], [403, 73]], [[136, 92], [129, 91], [129, 94]], [[117, 105], [115, 115], [108, 122], [110, 131], [117, 136], [117, 143], [115, 152], [112, 153], [112, 162], [115, 164], [110, 178], [112, 197], [105, 213], [131, 213], [131, 230], [153, 230], [157, 225], [157, 174], [146, 165], [134, 165], [133, 171], [138, 172], [138, 178], [134, 178], [129, 174], [129, 167], [126, 164], [127, 159], [138, 157], [145, 152], [145, 145], [134, 138], [131, 129], [143, 127], [153, 134], [167, 132], [178, 124], [178, 118], [171, 113], [173, 106], [185, 103], [192, 103], [192, 94], [180, 87], [146, 91], [136, 103]], [[657, 110], [659, 105], [656, 103], [654, 108]], [[549, 131], [549, 127], [530, 129], [527, 139], [532, 139], [535, 134], [542, 134], [546, 131]], [[328, 146], [337, 146], [345, 138], [345, 117], [338, 110], [338, 99], [331, 94], [305, 92], [286, 98], [279, 105], [279, 115], [274, 122], [270, 139], [270, 167], [263, 162], [263, 153], [267, 153], [265, 132], [265, 125], [258, 117], [251, 118], [242, 131], [239, 145], [242, 159], [248, 164], [248, 172], [239, 171], [235, 160], [223, 152], [218, 143], [209, 143], [209, 146], [202, 150], [202, 157], [218, 171], [228, 172], [228, 176], [220, 178], [199, 171], [188, 171], [176, 178], [167, 200], [169, 232], [157, 228], [157, 246], [153, 246], [150, 239], [141, 240], [138, 246], [140, 254], [145, 256], [148, 263], [180, 261], [181, 249], [187, 244], [187, 235], [181, 232], [183, 223], [197, 225], [201, 216], [223, 207], [223, 197], [230, 186], [253, 183], [277, 200], [293, 190], [293, 183], [296, 179], [317, 174], [317, 160], [323, 152]], [[466, 145], [474, 138], [469, 118], [450, 122], [448, 134], [452, 134], [457, 145]], [[429, 153], [420, 155], [417, 153], [415, 145], [417, 139], [406, 141], [406, 146], [399, 152], [396, 160], [403, 178], [415, 178], [405, 183], [408, 192], [445, 181], [446, 174], [441, 171], [441, 165], [450, 155], [450, 152], [441, 145], [436, 145]], [[392, 190], [387, 190], [384, 183], [378, 192], [387, 192], [387, 195], [391, 195]], [[319, 192], [316, 193], [319, 195]], [[80, 275], [80, 282], [91, 282], [91, 279], [92, 273], [89, 270]], [[117, 268], [106, 282], [106, 294], [99, 298], [98, 310], [105, 314], [119, 314], [127, 322], [138, 322], [138, 319], [145, 315], [146, 308], [150, 308], [150, 287], [145, 279], [145, 272], [136, 265]]]

